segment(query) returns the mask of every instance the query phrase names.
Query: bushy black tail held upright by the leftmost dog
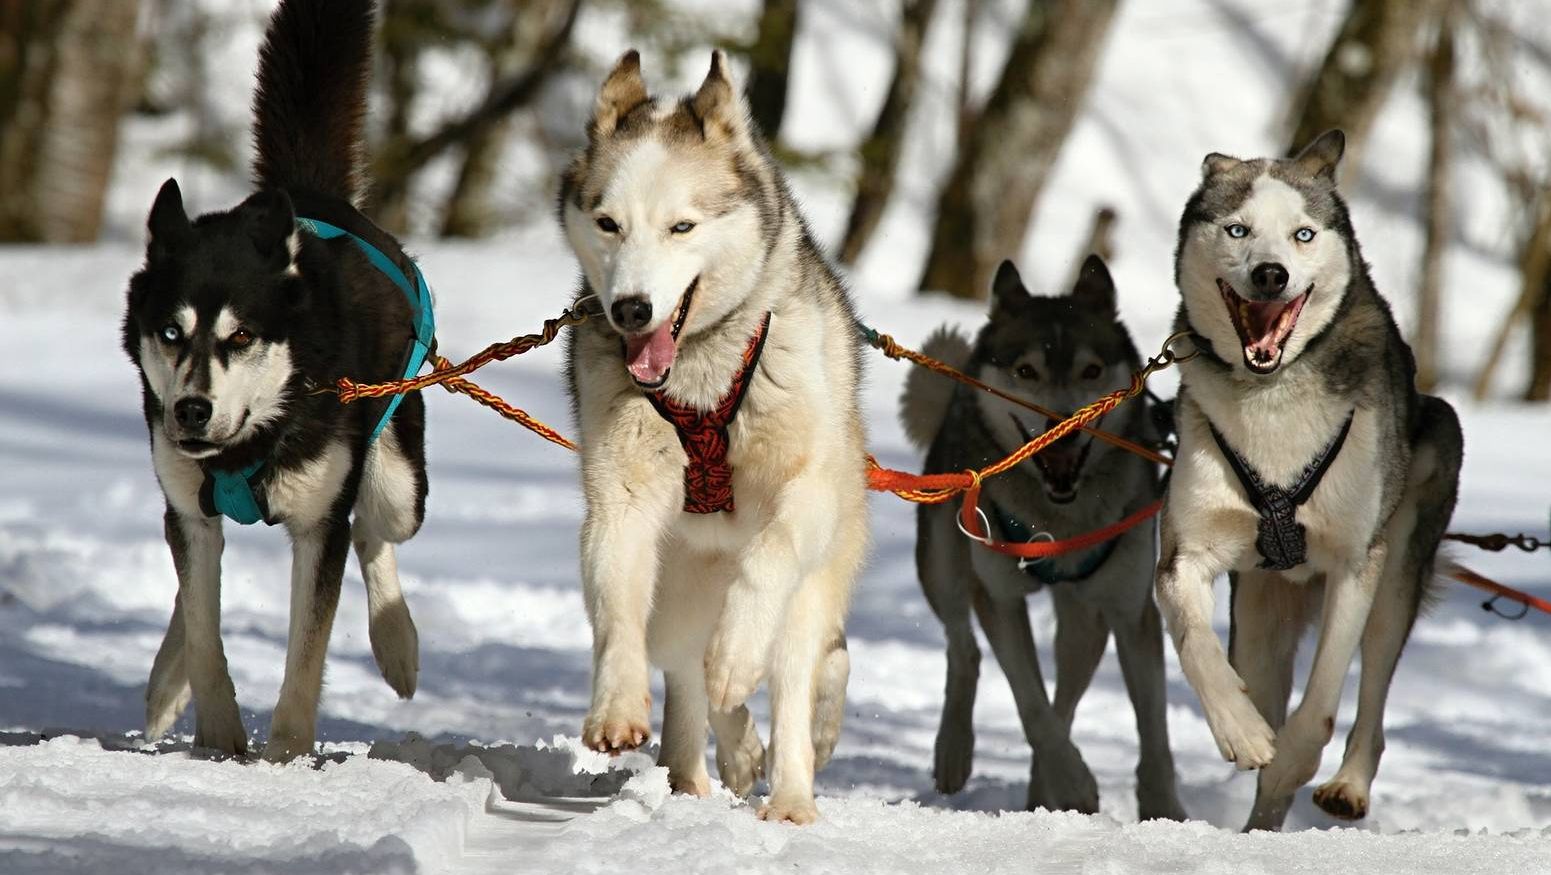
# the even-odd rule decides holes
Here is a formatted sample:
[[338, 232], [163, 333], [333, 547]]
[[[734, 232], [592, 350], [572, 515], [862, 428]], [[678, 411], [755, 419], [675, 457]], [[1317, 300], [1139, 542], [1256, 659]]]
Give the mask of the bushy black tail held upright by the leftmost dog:
[[282, 0], [259, 50], [259, 188], [355, 200], [372, 61], [372, 0]]

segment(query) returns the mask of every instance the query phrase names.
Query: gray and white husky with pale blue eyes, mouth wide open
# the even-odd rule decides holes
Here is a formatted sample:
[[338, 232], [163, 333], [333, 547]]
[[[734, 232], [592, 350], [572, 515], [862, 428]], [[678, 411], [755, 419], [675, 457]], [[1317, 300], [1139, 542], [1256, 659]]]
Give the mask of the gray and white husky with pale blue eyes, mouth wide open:
[[[1280, 828], [1320, 768], [1362, 645], [1357, 721], [1314, 801], [1363, 818], [1383, 703], [1453, 512], [1461, 434], [1418, 394], [1411, 351], [1373, 285], [1325, 133], [1290, 160], [1207, 155], [1179, 228], [1179, 462], [1159, 604], [1222, 756], [1263, 770], [1247, 828]], [[1231, 582], [1228, 653], [1213, 579]], [[1318, 617], [1303, 701], [1294, 656]]]

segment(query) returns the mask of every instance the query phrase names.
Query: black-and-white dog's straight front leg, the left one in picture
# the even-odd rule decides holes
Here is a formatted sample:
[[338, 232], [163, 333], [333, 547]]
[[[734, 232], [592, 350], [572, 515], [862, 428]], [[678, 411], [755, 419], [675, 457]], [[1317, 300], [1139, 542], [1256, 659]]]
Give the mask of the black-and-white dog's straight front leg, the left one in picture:
[[[220, 554], [226, 546], [220, 518], [188, 517], [168, 509], [168, 546], [178, 574], [178, 608], [183, 624], [183, 667], [194, 690], [194, 746], [225, 754], [247, 754], [248, 734], [237, 712], [237, 690], [226, 670], [220, 645]], [[181, 614], [181, 616], [180, 616]], [[174, 630], [168, 630], [171, 638]], [[158, 661], [171, 667], [169, 662]], [[155, 672], [152, 683], [157, 683]], [[163, 686], [168, 678], [161, 678]], [[152, 726], [155, 728], [155, 726]]]

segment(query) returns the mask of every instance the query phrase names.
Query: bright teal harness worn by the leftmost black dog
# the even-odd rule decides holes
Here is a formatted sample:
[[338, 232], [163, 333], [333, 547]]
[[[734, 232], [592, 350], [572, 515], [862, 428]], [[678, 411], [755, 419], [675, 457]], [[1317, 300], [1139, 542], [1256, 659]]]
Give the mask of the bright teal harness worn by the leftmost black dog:
[[[344, 213], [343, 220], [358, 220], [364, 223], [364, 228], [377, 231], [375, 225], [354, 209]], [[419, 374], [420, 366], [425, 365], [427, 358], [430, 358], [431, 348], [436, 343], [436, 315], [431, 312], [431, 289], [425, 284], [425, 275], [420, 273], [420, 265], [402, 251], [399, 251], [402, 262], [396, 262], [388, 258], [382, 248], [366, 242], [366, 239], [360, 234], [346, 231], [344, 228], [321, 219], [298, 217], [296, 227], [320, 240], [349, 237], [351, 242], [361, 250], [372, 267], [375, 267], [383, 276], [391, 279], [400, 292], [403, 292], [405, 298], [409, 299], [409, 309], [414, 312], [414, 338], [409, 341], [409, 349], [405, 355], [403, 379], [408, 380]], [[382, 234], [380, 231], [371, 236], [380, 237], [380, 242], [383, 244], [389, 242], [386, 234]], [[400, 267], [400, 264], [408, 265], [408, 270]], [[388, 420], [392, 419], [394, 411], [399, 410], [399, 403], [402, 402], [403, 396], [396, 394], [389, 397], [388, 408], [383, 410], [382, 417], [377, 419], [377, 425], [372, 428], [371, 438], [366, 439], [368, 445], [382, 436], [383, 428], [388, 428]], [[259, 459], [251, 465], [234, 472], [208, 469], [205, 472], [205, 484], [200, 489], [200, 507], [205, 510], [205, 515], [225, 517], [242, 526], [251, 526], [259, 520], [273, 526], [275, 520], [270, 518], [268, 503], [264, 498], [262, 489], [267, 467], [267, 461]]]

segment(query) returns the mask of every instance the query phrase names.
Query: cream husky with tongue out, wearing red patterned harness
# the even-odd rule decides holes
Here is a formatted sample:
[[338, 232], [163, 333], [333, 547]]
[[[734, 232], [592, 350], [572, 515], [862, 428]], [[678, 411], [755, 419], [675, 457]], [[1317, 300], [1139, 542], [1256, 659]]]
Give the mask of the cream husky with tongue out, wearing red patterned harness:
[[603, 82], [560, 220], [582, 296], [571, 391], [586, 520], [600, 751], [650, 735], [678, 791], [748, 794], [766, 757], [744, 701], [771, 692], [771, 796], [810, 822], [813, 774], [841, 729], [844, 621], [867, 543], [859, 335], [721, 53], [684, 99], [647, 95], [627, 53]]

